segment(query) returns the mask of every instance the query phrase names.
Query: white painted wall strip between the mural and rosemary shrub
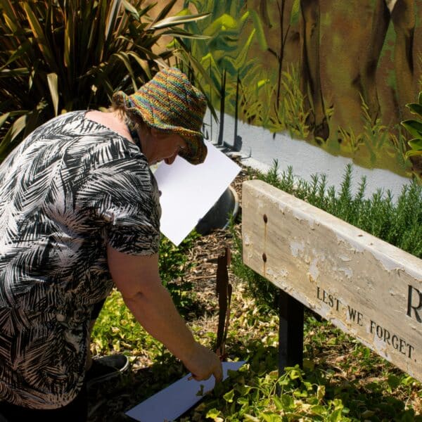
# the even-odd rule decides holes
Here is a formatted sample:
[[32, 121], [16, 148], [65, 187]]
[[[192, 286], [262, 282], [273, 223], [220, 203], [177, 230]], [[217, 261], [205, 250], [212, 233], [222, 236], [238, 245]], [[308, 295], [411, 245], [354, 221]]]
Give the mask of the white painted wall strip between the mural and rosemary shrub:
[[[205, 115], [205, 123], [210, 124], [210, 113]], [[224, 117], [224, 142], [233, 146], [234, 143], [234, 117]], [[210, 140], [217, 143], [219, 127], [215, 121], [207, 127]], [[273, 134], [262, 127], [251, 126], [238, 122], [238, 136], [241, 136], [241, 157], [243, 164], [267, 172], [272, 167], [274, 159], [279, 160], [280, 173], [286, 171], [288, 166], [293, 167], [293, 173], [307, 181], [311, 180], [312, 174], [325, 173], [328, 186], [340, 187], [345, 167], [352, 164], [350, 158], [336, 157], [326, 151], [312, 146], [306, 141], [292, 139], [288, 134]], [[352, 191], [356, 192], [362, 176], [366, 176], [366, 196], [369, 197], [378, 188], [386, 192], [388, 189], [396, 199], [402, 191], [404, 184], [409, 184], [410, 179], [400, 177], [388, 170], [366, 169], [353, 164]]]

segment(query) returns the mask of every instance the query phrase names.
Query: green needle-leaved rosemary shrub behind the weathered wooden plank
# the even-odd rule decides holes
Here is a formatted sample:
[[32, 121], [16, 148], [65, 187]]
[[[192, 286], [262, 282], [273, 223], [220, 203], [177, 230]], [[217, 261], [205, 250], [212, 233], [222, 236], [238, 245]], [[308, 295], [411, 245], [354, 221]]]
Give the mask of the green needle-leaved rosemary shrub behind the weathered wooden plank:
[[[365, 177], [360, 180], [357, 192], [352, 193], [352, 165], [345, 167], [338, 191], [334, 186], [328, 186], [326, 174], [313, 174], [311, 181], [305, 181], [293, 175], [291, 166], [286, 172], [279, 174], [276, 160], [267, 174], [256, 172], [253, 175], [411, 255], [422, 258], [422, 186], [417, 181], [405, 185], [397, 200], [394, 200], [391, 191], [384, 192], [381, 189], [371, 197], [366, 197]], [[235, 232], [233, 234], [236, 247], [232, 259], [234, 273], [248, 281], [257, 300], [274, 305], [277, 289], [243, 264], [242, 241]]]

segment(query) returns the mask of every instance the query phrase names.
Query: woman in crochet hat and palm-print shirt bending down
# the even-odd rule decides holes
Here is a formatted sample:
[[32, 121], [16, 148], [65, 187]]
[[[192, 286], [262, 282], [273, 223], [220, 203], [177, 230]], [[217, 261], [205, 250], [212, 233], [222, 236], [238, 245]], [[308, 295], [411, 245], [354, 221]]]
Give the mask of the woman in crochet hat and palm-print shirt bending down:
[[[159, 193], [149, 165], [207, 153], [205, 97], [176, 68], [108, 113], [37, 128], [0, 166], [0, 415], [84, 421], [91, 321], [113, 286], [197, 380], [222, 378], [160, 283]], [[60, 418], [60, 419], [59, 419]]]

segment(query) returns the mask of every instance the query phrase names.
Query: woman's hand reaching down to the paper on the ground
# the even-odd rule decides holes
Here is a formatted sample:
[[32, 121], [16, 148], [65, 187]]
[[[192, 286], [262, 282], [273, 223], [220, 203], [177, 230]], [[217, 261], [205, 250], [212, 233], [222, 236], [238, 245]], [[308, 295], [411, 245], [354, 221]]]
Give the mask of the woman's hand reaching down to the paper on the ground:
[[215, 377], [216, 383], [223, 379], [222, 362], [219, 357], [199, 343], [195, 343], [193, 352], [183, 363], [188, 371], [191, 371], [192, 377], [196, 381], [207, 380], [212, 375]]

